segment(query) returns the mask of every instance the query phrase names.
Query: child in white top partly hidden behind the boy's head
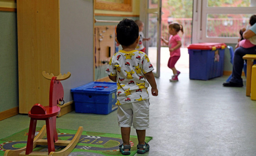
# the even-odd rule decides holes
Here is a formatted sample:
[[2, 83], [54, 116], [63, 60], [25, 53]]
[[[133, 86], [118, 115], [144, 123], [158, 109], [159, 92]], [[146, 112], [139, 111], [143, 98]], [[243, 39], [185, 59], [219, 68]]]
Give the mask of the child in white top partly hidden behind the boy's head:
[[140, 36], [140, 40], [139, 40], [139, 43], [138, 45], [136, 46], [136, 50], [138, 51], [141, 51], [141, 52], [144, 52], [145, 53], [145, 47], [143, 45], [143, 41], [148, 41], [150, 40], [150, 38], [145, 38], [144, 37], [144, 34], [143, 34], [143, 29], [144, 29], [144, 23], [140, 20], [135, 20], [135, 23], [138, 25], [139, 27], [139, 36]]

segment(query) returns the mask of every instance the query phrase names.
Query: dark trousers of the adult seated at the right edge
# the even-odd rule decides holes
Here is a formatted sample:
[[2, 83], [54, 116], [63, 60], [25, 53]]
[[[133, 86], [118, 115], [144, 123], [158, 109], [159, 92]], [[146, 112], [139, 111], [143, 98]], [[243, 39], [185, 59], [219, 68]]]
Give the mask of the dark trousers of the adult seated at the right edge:
[[242, 80], [242, 70], [243, 70], [243, 56], [246, 54], [256, 54], [256, 46], [253, 46], [252, 48], [242, 48], [238, 47], [234, 52], [234, 58], [233, 58], [233, 69], [232, 69], [232, 78], [230, 82], [236, 83], [236, 84], [243, 84]]

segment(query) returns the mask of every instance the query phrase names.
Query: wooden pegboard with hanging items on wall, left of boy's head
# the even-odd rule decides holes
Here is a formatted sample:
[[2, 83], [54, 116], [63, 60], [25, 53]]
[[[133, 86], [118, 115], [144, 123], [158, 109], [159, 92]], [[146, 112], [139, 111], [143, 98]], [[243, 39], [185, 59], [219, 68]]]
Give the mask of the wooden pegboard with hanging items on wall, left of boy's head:
[[95, 68], [106, 65], [115, 53], [115, 26], [95, 26]]

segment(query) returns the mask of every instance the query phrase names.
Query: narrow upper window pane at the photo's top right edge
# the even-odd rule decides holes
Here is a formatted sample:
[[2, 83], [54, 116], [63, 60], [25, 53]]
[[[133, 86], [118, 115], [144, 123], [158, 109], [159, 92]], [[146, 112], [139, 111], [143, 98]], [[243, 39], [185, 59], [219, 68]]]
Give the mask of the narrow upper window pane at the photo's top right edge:
[[209, 7], [250, 7], [255, 6], [251, 0], [208, 0]]

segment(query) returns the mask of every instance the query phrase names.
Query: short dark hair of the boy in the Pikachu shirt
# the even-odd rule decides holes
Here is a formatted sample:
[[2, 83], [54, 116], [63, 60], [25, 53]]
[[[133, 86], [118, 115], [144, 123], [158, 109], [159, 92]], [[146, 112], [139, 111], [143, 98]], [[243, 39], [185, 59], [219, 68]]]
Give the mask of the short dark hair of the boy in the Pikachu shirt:
[[116, 37], [121, 45], [133, 44], [139, 36], [138, 25], [130, 19], [123, 19], [116, 27]]

